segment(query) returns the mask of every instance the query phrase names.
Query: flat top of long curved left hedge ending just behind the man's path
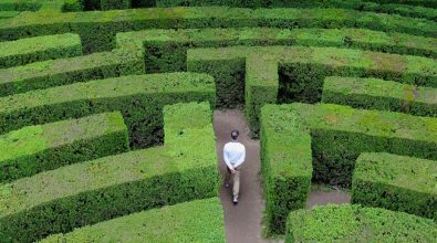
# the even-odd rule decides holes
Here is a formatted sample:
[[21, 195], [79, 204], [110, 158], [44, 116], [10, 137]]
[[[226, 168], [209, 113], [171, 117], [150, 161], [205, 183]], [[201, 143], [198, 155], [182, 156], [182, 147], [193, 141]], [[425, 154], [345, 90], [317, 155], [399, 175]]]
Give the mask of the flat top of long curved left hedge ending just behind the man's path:
[[[184, 80], [186, 82], [180, 82]], [[129, 75], [38, 89], [0, 98], [0, 114], [72, 101], [122, 97], [136, 94], [183, 93], [214, 89], [214, 78], [206, 74], [168, 73]], [[60, 95], [62, 94], [62, 95]]]

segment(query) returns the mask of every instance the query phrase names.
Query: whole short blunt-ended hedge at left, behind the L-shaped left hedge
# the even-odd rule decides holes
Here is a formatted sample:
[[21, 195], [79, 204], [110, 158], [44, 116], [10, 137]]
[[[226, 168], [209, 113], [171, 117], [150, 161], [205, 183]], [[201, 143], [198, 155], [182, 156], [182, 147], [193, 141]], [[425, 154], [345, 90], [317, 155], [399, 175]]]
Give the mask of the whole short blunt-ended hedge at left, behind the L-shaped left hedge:
[[0, 136], [0, 182], [128, 150], [122, 114], [24, 127]]

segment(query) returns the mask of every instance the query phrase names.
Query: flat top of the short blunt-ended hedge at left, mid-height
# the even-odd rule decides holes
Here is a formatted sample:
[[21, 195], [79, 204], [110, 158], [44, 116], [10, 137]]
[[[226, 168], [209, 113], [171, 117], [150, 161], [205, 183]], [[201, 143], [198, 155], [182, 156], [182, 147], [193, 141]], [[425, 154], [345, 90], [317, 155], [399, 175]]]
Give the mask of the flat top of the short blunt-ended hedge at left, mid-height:
[[0, 152], [0, 163], [34, 155], [49, 148], [123, 130], [127, 130], [127, 128], [119, 112], [23, 127], [0, 135], [0, 151], [2, 151]]

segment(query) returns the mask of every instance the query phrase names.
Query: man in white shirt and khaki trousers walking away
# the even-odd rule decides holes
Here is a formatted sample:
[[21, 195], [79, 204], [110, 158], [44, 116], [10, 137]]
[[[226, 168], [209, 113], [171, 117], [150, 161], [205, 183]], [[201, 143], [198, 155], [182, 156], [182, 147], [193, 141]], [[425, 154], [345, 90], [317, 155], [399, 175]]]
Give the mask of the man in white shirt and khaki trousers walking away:
[[232, 130], [230, 134], [231, 141], [223, 147], [223, 160], [227, 166], [227, 173], [225, 178], [225, 187], [230, 187], [230, 180], [232, 179], [232, 202], [238, 203], [238, 197], [240, 193], [240, 170], [241, 165], [246, 159], [246, 147], [238, 141], [238, 130]]

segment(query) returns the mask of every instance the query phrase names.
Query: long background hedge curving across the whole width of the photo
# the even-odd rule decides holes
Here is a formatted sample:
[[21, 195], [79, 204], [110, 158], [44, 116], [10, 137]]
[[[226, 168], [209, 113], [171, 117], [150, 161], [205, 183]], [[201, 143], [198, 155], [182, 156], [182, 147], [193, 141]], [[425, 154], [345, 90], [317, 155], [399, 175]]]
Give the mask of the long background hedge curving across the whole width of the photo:
[[434, 21], [344, 9], [148, 8], [118, 11], [27, 12], [0, 21], [0, 40], [72, 32], [84, 53], [115, 47], [115, 34], [142, 29], [189, 28], [363, 28], [437, 36]]

